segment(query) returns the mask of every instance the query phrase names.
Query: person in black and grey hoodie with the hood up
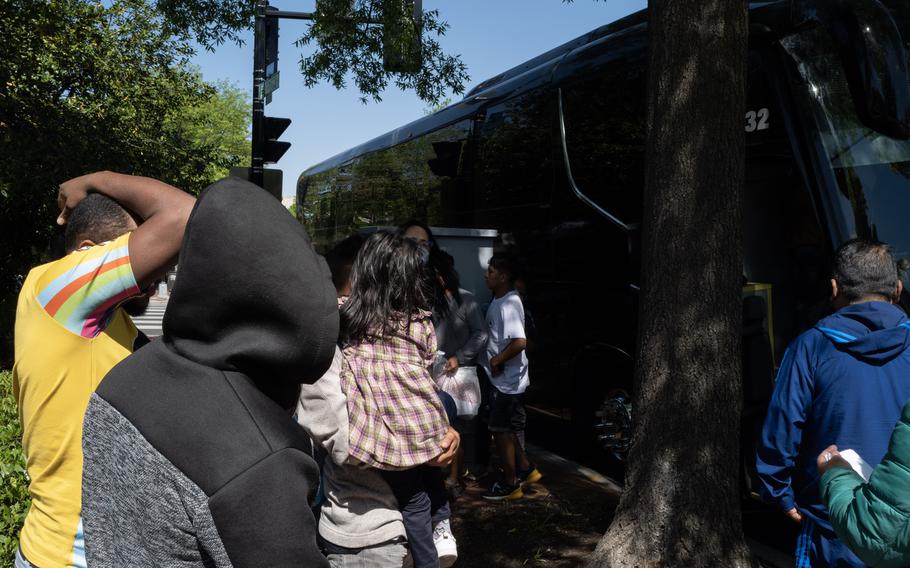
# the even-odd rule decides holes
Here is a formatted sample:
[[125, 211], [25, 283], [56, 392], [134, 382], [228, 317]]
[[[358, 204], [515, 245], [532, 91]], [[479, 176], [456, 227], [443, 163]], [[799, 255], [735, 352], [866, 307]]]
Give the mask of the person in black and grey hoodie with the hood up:
[[88, 405], [88, 565], [327, 566], [317, 467], [288, 412], [335, 350], [325, 261], [277, 200], [228, 178], [199, 197], [179, 266], [162, 340]]

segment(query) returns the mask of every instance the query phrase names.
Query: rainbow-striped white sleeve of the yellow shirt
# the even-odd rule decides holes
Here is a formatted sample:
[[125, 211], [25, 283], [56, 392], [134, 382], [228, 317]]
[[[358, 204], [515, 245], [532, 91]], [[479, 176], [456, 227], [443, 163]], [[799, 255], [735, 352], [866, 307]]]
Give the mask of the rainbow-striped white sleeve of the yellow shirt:
[[82, 337], [104, 331], [117, 307], [140, 293], [130, 266], [129, 236], [55, 262], [38, 283], [38, 300], [48, 315]]

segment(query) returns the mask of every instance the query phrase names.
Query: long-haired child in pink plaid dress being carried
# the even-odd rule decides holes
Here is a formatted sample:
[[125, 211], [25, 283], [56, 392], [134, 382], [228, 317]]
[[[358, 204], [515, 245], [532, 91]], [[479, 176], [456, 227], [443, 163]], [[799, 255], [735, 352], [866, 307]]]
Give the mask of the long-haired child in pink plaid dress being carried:
[[379, 231], [354, 261], [351, 295], [341, 308], [348, 451], [391, 487], [415, 568], [439, 566], [432, 523], [449, 516], [441, 472], [426, 465], [443, 453], [449, 430], [430, 375], [431, 275], [425, 247]]

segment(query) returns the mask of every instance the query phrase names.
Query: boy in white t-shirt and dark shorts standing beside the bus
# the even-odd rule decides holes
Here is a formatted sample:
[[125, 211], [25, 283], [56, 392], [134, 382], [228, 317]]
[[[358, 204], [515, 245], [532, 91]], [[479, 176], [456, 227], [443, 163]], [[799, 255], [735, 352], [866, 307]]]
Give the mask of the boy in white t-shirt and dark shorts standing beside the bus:
[[483, 497], [491, 501], [520, 499], [524, 497], [522, 486], [541, 477], [518, 438], [527, 418], [521, 396], [529, 384], [524, 306], [514, 290], [515, 267], [510, 259], [491, 258], [485, 280], [493, 301], [487, 309], [489, 335], [480, 361], [493, 384], [488, 428], [502, 461], [502, 480]]

